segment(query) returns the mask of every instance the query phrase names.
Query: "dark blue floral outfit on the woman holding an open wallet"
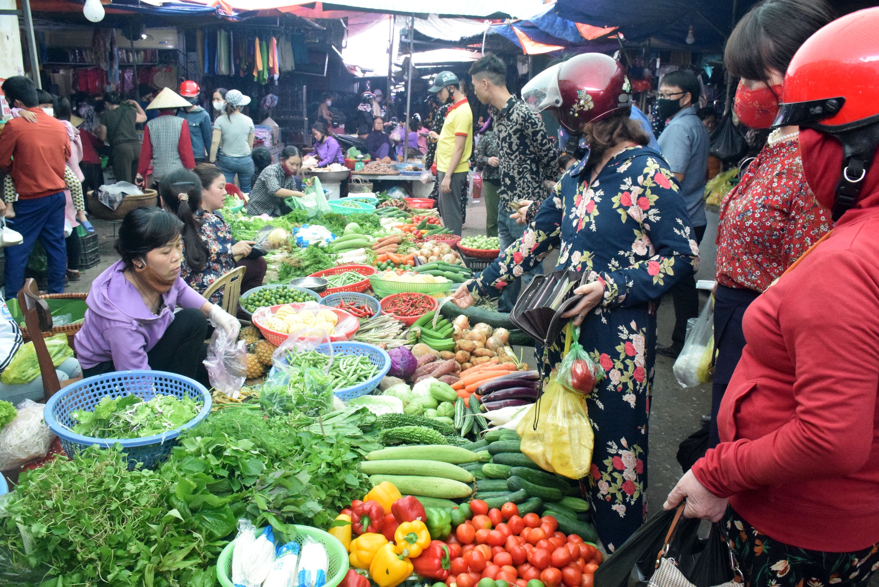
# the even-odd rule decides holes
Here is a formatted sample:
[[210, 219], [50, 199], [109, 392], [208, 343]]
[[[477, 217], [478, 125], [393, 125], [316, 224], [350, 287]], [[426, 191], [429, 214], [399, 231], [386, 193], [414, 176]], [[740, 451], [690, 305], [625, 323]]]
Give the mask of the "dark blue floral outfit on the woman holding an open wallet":
[[[592, 518], [609, 552], [642, 525], [647, 489], [650, 387], [656, 359], [656, 301], [693, 274], [699, 250], [679, 184], [658, 151], [630, 147], [586, 185], [578, 163], [541, 204], [525, 235], [486, 268], [469, 290], [497, 297], [560, 247], [556, 269], [588, 272], [604, 300], [580, 329], [580, 344], [607, 372], [587, 404], [595, 448], [588, 477]], [[538, 361], [545, 373], [563, 341]], [[546, 359], [544, 359], [546, 357]]]

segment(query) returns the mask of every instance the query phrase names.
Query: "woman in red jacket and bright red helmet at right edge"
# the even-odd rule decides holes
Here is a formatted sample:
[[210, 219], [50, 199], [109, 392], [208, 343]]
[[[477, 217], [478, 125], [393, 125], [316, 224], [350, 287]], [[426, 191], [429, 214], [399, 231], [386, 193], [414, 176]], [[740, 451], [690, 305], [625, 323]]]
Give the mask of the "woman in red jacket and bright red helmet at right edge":
[[721, 443], [672, 508], [730, 531], [745, 584], [865, 585], [879, 568], [879, 8], [815, 33], [774, 126], [798, 125], [803, 173], [834, 228], [745, 312]]

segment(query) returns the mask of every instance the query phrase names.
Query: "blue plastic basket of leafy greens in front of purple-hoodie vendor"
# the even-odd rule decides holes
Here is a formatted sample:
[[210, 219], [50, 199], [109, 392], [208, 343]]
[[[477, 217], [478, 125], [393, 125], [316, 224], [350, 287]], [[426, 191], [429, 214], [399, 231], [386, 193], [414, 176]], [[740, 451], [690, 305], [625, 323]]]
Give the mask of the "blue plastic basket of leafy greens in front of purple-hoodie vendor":
[[[195, 402], [201, 402], [202, 407], [196, 417], [179, 428], [143, 438], [91, 438], [70, 430], [76, 424], [70, 417], [71, 411], [94, 409], [105, 395], [115, 398], [132, 394], [144, 401], [149, 401], [157, 394], [176, 395], [179, 399], [188, 395]], [[61, 438], [68, 456], [72, 457], [88, 446], [110, 448], [119, 443], [128, 455], [129, 468], [134, 468], [138, 462], [142, 462], [145, 468], [155, 468], [171, 454], [180, 431], [204, 420], [211, 411], [212, 403], [205, 386], [183, 375], [164, 371], [116, 371], [88, 377], [62, 388], [46, 402], [43, 419], [49, 430]]]

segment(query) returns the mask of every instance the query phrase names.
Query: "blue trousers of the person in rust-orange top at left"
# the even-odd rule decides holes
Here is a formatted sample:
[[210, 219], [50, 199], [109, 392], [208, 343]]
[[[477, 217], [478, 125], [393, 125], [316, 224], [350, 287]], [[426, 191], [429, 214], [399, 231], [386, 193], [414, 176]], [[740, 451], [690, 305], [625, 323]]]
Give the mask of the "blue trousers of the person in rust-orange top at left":
[[21, 233], [24, 241], [6, 248], [6, 299], [18, 295], [25, 285], [27, 257], [33, 243], [39, 238], [46, 250], [47, 281], [49, 294], [64, 293], [64, 276], [67, 273], [67, 247], [64, 245], [64, 192], [43, 198], [18, 199], [15, 218], [6, 224]]

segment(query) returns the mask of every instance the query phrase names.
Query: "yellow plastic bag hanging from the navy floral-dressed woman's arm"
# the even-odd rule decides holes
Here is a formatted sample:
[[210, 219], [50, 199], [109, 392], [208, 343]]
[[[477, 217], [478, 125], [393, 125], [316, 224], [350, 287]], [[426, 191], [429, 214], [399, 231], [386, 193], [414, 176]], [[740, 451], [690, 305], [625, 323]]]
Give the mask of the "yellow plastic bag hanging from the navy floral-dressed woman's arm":
[[[570, 349], [570, 330], [565, 347]], [[519, 421], [516, 432], [522, 438], [522, 453], [541, 468], [570, 479], [589, 474], [595, 434], [585, 396], [565, 388], [556, 373], [549, 376], [546, 390]]]

